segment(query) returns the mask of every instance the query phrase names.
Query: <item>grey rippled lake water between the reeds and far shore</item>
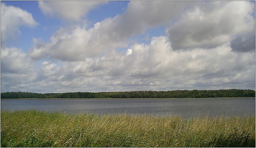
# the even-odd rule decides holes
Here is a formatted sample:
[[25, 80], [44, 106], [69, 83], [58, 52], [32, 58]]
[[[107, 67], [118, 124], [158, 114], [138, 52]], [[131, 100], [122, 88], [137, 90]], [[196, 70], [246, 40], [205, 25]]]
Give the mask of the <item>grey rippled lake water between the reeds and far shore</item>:
[[254, 98], [193, 99], [1, 99], [2, 110], [37, 109], [66, 113], [146, 114], [197, 117], [255, 115]]

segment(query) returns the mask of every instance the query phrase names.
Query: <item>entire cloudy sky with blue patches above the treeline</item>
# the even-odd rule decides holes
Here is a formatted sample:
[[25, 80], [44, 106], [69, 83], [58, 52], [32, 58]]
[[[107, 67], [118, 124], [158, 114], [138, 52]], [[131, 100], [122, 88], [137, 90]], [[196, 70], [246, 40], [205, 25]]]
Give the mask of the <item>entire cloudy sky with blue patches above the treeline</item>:
[[255, 90], [255, 1], [1, 1], [1, 92]]

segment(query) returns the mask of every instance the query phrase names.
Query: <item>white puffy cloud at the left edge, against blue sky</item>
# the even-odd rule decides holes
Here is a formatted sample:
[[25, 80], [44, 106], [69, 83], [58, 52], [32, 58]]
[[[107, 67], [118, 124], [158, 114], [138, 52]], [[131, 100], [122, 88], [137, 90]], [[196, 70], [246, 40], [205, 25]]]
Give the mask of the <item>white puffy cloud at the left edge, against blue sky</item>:
[[15, 37], [20, 33], [20, 26], [35, 27], [38, 23], [33, 19], [32, 14], [14, 6], [6, 6], [1, 3], [1, 43], [9, 37]]

